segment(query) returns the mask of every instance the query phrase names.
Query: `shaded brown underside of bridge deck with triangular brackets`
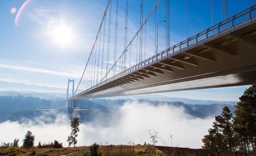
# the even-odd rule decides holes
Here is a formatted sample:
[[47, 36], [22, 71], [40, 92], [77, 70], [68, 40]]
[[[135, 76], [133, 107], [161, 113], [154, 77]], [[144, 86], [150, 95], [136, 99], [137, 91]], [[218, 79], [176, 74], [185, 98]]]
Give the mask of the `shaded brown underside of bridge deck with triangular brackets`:
[[241, 23], [71, 99], [256, 84], [256, 23]]

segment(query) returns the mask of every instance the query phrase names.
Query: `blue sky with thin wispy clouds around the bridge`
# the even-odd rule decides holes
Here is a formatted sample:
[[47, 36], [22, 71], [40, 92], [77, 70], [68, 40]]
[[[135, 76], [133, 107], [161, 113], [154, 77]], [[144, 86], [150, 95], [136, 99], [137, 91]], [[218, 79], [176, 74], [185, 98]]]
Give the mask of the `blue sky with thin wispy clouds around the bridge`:
[[[157, 0], [144, 1], [144, 18], [148, 16], [156, 2]], [[213, 2], [214, 23], [218, 23], [222, 20], [221, 0], [213, 0]], [[26, 5], [17, 18], [18, 10], [24, 3]], [[113, 15], [114, 3], [115, 0]], [[120, 46], [117, 48], [119, 54], [124, 48], [122, 41], [124, 3], [125, 1], [121, 0], [119, 2]], [[157, 9], [157, 21], [165, 19], [164, 4], [163, 0]], [[75, 78], [77, 84], [106, 5], [107, 0], [0, 0], [0, 81], [65, 88], [68, 78]], [[232, 0], [228, 5], [229, 16], [233, 16], [250, 7], [251, 0], [244, 0], [243, 3]], [[128, 9], [127, 40], [130, 40], [139, 28], [140, 2], [129, 0]], [[171, 0], [170, 10], [172, 46], [186, 39], [185, 0]], [[154, 35], [153, 22], [152, 17], [147, 25], [147, 57], [154, 53], [154, 39], [150, 39], [150, 36]], [[56, 31], [62, 26], [66, 35], [64, 37], [62, 32]], [[188, 0], [188, 36], [195, 35], [208, 27], [211, 27], [210, 0]], [[68, 39], [65, 38], [67, 36]], [[159, 51], [161, 50], [164, 50], [164, 25], [159, 25]], [[238, 100], [246, 88], [248, 86], [159, 94], [194, 99]]]

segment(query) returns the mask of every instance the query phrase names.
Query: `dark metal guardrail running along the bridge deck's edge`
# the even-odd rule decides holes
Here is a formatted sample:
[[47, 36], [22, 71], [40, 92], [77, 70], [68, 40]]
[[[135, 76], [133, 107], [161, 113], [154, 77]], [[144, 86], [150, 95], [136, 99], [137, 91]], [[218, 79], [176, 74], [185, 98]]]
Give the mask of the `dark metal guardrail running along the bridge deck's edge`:
[[[209, 37], [213, 36], [213, 35], [216, 35], [216, 34], [220, 34], [220, 32], [228, 29], [228, 28], [232, 28], [232, 27], [235, 27], [236, 25], [246, 21], [246, 20], [252, 20], [253, 17], [256, 16], [256, 5], [253, 5], [252, 7], [242, 11], [242, 12], [239, 12], [238, 14], [235, 14], [234, 16], [212, 26], [212, 27], [209, 27], [208, 29], [192, 36], [192, 37], [189, 37], [188, 39], [178, 43], [178, 44], [175, 44], [174, 46], [124, 70], [123, 72], [121, 73], [118, 73], [110, 78], [108, 78], [107, 80], [105, 81], [102, 81], [94, 86], [92, 86], [91, 88], [87, 89], [87, 90], [84, 90], [82, 92], [86, 92], [88, 90], [92, 90], [94, 88], [97, 88], [98, 86], [100, 85], [103, 85], [109, 81], [112, 81], [114, 79], [117, 79], [125, 74], [129, 74], [129, 73], [132, 73], [133, 71], [139, 69], [139, 68], [142, 68], [144, 66], [147, 66], [148, 64], [152, 64], [154, 62], [157, 62], [157, 60], [159, 59], [162, 59], [162, 58], [168, 58], [170, 56], [173, 56], [174, 54], [176, 54], [177, 52], [183, 50], [184, 48], [189, 48], [189, 46], [193, 45], [193, 44], [196, 44], [198, 43], [199, 41], [203, 41], [203, 40], [207, 40]], [[81, 94], [82, 92], [80, 93], [77, 93], [76, 95], [78, 94]], [[76, 96], [75, 95], [75, 96]]]

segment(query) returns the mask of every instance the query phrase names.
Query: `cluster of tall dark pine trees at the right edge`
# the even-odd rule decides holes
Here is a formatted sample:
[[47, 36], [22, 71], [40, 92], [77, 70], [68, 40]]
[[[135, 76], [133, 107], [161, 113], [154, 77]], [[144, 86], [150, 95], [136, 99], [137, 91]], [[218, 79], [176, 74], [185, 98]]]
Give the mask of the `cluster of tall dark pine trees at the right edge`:
[[209, 134], [202, 139], [203, 149], [216, 152], [256, 152], [256, 85], [244, 91], [230, 112], [225, 106], [220, 115], [215, 116]]

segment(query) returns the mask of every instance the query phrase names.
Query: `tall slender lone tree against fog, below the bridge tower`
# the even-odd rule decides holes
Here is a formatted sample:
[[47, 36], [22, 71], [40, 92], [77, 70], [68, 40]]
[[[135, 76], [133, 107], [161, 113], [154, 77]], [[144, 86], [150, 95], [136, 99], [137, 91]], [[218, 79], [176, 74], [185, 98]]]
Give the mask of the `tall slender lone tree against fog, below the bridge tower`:
[[74, 117], [73, 120], [70, 122], [70, 126], [71, 126], [71, 133], [70, 133], [70, 136], [68, 136], [68, 146], [71, 146], [71, 144], [74, 144], [74, 147], [75, 147], [75, 144], [77, 144], [77, 140], [76, 140], [76, 137], [77, 137], [77, 133], [80, 131], [78, 126], [79, 126], [79, 119], [78, 117]]

